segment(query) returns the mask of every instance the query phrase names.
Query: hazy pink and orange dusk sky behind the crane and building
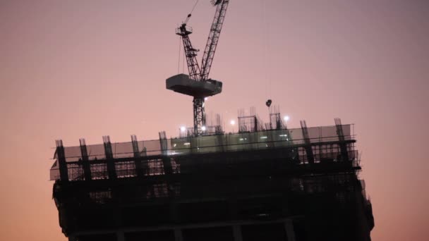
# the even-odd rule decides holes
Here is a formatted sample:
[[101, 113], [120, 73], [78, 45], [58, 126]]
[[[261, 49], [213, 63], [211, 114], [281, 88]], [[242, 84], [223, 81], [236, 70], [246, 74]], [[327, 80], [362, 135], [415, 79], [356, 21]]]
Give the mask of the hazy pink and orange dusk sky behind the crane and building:
[[[208, 2], [189, 23], [200, 49]], [[174, 28], [194, 3], [0, 0], [0, 240], [66, 240], [48, 180], [54, 140], [192, 125], [191, 97], [164, 88], [178, 69]], [[270, 98], [290, 128], [356, 124], [373, 240], [427, 240], [428, 43], [425, 0], [231, 0], [211, 72], [224, 89], [206, 111], [227, 124], [255, 106], [267, 120]]]

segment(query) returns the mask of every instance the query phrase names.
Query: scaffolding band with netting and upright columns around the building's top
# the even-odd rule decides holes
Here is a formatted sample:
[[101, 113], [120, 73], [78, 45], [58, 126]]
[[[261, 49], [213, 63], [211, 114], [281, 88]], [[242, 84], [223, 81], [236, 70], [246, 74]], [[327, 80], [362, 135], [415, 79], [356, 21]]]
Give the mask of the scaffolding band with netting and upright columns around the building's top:
[[[64, 163], [68, 180], [130, 178], [140, 175], [163, 175], [163, 159], [170, 159], [173, 173], [180, 173], [180, 164], [174, 160], [190, 154], [222, 154], [262, 150], [286, 150], [286, 156], [296, 164], [350, 161], [358, 165], [358, 152], [354, 148], [352, 125], [280, 130], [260, 130], [234, 134], [204, 135], [167, 139], [160, 132], [159, 140], [111, 143], [108, 136], [104, 144], [86, 145], [80, 140], [76, 147], [63, 147], [57, 141], [55, 162], [50, 171], [51, 180], [61, 179], [60, 166]], [[344, 152], [344, 148], [346, 151]], [[310, 149], [310, 154], [308, 150]], [[61, 164], [61, 160], [64, 163]], [[65, 167], [64, 167], [65, 168]], [[87, 171], [85, 171], [87, 170]], [[114, 172], [109, 177], [110, 172]], [[86, 174], [85, 174], [86, 173]], [[85, 176], [86, 175], [86, 176]]]

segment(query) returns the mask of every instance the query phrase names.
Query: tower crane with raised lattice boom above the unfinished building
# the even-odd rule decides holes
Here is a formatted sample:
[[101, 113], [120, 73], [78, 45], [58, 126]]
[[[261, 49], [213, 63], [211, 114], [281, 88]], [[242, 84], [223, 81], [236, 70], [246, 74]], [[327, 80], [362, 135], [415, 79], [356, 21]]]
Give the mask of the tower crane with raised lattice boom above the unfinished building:
[[193, 32], [192, 28], [187, 25], [188, 20], [191, 18], [191, 14], [189, 14], [186, 20], [176, 29], [176, 35], [181, 36], [183, 41], [189, 75], [174, 75], [166, 80], [167, 89], [193, 97], [193, 132], [197, 136], [202, 135], [205, 131], [205, 98], [222, 92], [222, 82], [210, 79], [209, 73], [229, 0], [210, 0], [210, 2], [213, 6], [216, 6], [216, 13], [210, 27], [210, 34], [201, 66], [196, 58], [199, 49], [195, 49], [191, 44], [191, 39], [189, 39], [189, 35]]

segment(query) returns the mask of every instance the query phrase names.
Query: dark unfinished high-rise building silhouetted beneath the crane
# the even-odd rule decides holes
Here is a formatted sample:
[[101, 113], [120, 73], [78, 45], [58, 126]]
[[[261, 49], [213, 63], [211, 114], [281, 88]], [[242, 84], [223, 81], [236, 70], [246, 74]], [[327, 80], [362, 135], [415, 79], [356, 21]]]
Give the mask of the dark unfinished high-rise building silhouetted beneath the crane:
[[[59, 224], [79, 241], [370, 240], [352, 125], [63, 147], [51, 168]], [[186, 133], [185, 133], [186, 132]]]

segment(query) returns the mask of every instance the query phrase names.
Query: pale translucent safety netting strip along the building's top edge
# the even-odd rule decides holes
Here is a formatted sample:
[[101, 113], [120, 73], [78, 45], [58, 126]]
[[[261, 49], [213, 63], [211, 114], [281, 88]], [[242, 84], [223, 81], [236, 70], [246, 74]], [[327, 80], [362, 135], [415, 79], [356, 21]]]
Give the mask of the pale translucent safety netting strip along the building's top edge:
[[[351, 140], [353, 133], [351, 125], [342, 125], [344, 140]], [[323, 126], [308, 128], [308, 137], [311, 143], [339, 141], [337, 126]], [[207, 135], [200, 137], [180, 137], [164, 140], [139, 141], [138, 156], [181, 155], [207, 152], [234, 152], [247, 149], [265, 149], [271, 147], [287, 147], [304, 144], [303, 130], [262, 130], [258, 132], [242, 132], [224, 135]], [[163, 144], [162, 144], [163, 143]], [[162, 148], [163, 146], [163, 148]], [[111, 143], [114, 159], [133, 157], [132, 142]], [[64, 147], [66, 161], [83, 159], [79, 146]], [[106, 159], [104, 144], [87, 145], [87, 156], [91, 160]], [[54, 154], [54, 159], [58, 156]]]

